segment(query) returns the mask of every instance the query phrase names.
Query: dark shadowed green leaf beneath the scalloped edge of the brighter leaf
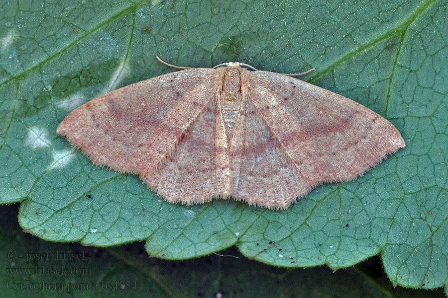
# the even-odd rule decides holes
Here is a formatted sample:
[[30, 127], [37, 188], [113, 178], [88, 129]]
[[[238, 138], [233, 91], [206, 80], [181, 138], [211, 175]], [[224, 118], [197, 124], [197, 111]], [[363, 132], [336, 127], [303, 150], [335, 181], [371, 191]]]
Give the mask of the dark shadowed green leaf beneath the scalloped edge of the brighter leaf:
[[[0, 209], [0, 284], [9, 298], [201, 298], [218, 293], [259, 298], [444, 297], [442, 289], [394, 289], [379, 258], [335, 273], [325, 267], [277, 268], [244, 258], [236, 249], [169, 261], [148, 258], [143, 243], [103, 249], [43, 241], [22, 233], [16, 216], [17, 206]], [[41, 290], [36, 293], [33, 287]]]

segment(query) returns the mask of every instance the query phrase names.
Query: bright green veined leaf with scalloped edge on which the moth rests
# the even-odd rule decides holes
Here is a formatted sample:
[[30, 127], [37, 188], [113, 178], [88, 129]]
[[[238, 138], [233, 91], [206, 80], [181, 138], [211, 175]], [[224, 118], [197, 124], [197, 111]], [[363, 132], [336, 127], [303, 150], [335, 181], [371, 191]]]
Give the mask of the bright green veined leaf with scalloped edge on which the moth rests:
[[[285, 267], [353, 266], [381, 253], [393, 284], [448, 280], [447, 1], [72, 1], [0, 4], [0, 202], [51, 241], [144, 240], [166, 259], [236, 245]], [[31, 5], [31, 6], [27, 6]], [[303, 79], [390, 120], [407, 147], [287, 211], [162, 202], [135, 176], [94, 166], [59, 122], [112, 89], [239, 61]], [[271, 243], [272, 242], [272, 243]], [[280, 250], [281, 249], [281, 250]]]

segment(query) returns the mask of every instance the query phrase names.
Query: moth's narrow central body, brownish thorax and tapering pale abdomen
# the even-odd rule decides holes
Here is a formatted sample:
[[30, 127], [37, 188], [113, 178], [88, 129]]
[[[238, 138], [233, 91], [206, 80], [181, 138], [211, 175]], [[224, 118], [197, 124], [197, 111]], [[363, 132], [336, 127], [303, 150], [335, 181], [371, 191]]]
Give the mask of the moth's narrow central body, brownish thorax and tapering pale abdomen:
[[235, 126], [241, 108], [241, 75], [239, 70], [239, 67], [229, 67], [224, 71], [223, 88], [220, 93], [221, 113], [227, 138]]

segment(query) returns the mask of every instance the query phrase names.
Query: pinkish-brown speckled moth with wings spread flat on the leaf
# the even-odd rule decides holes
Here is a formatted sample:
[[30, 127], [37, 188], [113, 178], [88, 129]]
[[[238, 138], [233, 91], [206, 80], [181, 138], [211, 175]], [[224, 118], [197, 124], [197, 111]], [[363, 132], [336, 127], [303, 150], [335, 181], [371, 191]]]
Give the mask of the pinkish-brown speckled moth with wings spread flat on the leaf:
[[169, 203], [232, 198], [269, 209], [353, 180], [405, 147], [390, 122], [348, 98], [233, 62], [101, 95], [57, 133]]

